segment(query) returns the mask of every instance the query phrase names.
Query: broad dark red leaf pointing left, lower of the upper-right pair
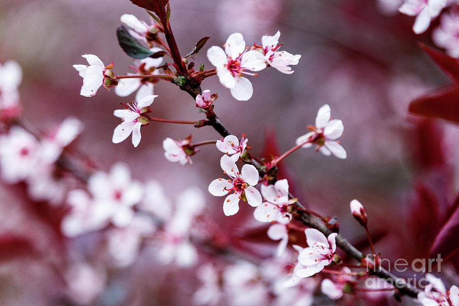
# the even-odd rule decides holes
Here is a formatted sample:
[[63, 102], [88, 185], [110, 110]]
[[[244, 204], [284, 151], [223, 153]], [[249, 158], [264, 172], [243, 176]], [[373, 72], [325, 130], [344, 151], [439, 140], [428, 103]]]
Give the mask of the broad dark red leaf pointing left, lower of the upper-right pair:
[[459, 88], [447, 86], [410, 103], [409, 112], [430, 118], [459, 122]]

